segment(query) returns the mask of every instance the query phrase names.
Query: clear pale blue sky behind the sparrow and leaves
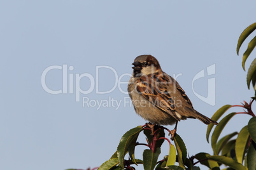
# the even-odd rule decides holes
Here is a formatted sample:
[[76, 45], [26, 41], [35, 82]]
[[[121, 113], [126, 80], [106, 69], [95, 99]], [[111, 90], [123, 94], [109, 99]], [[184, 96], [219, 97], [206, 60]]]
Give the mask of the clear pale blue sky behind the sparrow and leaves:
[[[118, 86], [129, 80], [138, 55], [151, 54], [169, 75], [180, 74], [177, 81], [194, 108], [208, 117], [222, 105], [249, 101], [253, 91], [241, 67], [248, 41], [240, 56], [236, 44], [255, 22], [255, 6], [256, 1], [1, 1], [0, 168], [86, 169], [108, 160], [126, 131], [145, 124], [129, 105], [127, 84]], [[201, 70], [205, 76], [192, 88]], [[208, 96], [208, 79], [215, 81], [211, 105], [199, 98]], [[48, 93], [44, 83], [60, 94]], [[239, 131], [249, 118], [236, 115], [224, 134]], [[206, 128], [194, 119], [178, 124], [190, 156], [212, 153]], [[138, 147], [136, 157], [143, 149]], [[168, 149], [164, 143], [160, 158]]]

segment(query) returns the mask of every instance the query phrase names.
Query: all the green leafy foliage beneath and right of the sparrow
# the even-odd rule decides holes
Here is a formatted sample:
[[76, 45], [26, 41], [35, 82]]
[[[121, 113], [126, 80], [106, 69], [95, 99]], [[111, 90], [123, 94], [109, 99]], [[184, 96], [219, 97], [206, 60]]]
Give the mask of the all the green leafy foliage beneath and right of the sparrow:
[[[253, 23], [247, 27], [238, 40], [237, 53], [245, 39], [256, 29], [256, 23]], [[248, 56], [252, 53], [256, 46], [256, 36], [249, 42], [248, 48], [243, 54], [242, 67], [245, 70], [245, 62]], [[256, 58], [248, 69], [247, 74], [247, 85], [250, 88], [250, 82], [255, 90], [256, 82]], [[154, 126], [150, 129], [148, 124], [144, 126], [138, 126], [132, 128], [122, 136], [120, 143], [117, 147], [117, 151], [113, 154], [110, 160], [106, 160], [100, 167], [101, 169], [135, 169], [132, 165], [143, 164], [145, 170], [161, 170], [161, 169], [189, 169], [197, 170], [200, 169], [196, 164], [200, 163], [209, 169], [217, 170], [222, 165], [227, 166], [225, 169], [256, 169], [256, 117], [252, 111], [252, 103], [256, 99], [256, 91], [253, 94], [252, 100], [249, 103], [244, 101], [242, 105], [224, 105], [215, 112], [213, 117], [214, 121], [218, 121], [222, 115], [229, 110], [231, 107], [242, 107], [244, 112], [232, 112], [225, 115], [220, 120], [218, 126], [215, 127], [211, 135], [211, 147], [213, 149], [213, 155], [208, 153], [198, 153], [192, 157], [188, 157], [187, 148], [185, 143], [178, 134], [174, 135], [174, 145], [169, 139], [165, 137], [164, 130], [169, 129], [163, 126]], [[251, 115], [252, 118], [240, 131], [227, 134], [224, 137], [218, 139], [222, 130], [226, 124], [236, 114]], [[208, 125], [206, 132], [206, 140], [209, 143], [209, 138], [213, 124]], [[138, 136], [143, 131], [146, 136], [147, 143], [139, 143]], [[152, 134], [153, 133], [153, 134]], [[159, 160], [160, 148], [164, 140], [169, 143], [169, 155], [166, 155], [162, 160]], [[136, 159], [134, 150], [137, 145], [145, 145], [148, 147], [143, 152], [143, 160]], [[175, 146], [175, 147], [174, 147]], [[175, 150], [176, 148], [176, 150]], [[125, 155], [129, 154], [129, 159], [125, 159]], [[197, 161], [196, 161], [197, 160]], [[176, 163], [177, 162], [177, 163]], [[179, 166], [175, 165], [178, 164]]]

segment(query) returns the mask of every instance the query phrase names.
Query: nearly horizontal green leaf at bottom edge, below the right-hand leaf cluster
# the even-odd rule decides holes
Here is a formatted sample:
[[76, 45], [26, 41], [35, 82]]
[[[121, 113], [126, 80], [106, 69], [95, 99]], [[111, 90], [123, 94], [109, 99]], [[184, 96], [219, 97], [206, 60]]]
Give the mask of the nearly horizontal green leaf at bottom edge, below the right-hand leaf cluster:
[[242, 164], [234, 161], [230, 157], [216, 155], [216, 156], [210, 156], [210, 157], [208, 157], [208, 159], [215, 160], [216, 162], [225, 164], [226, 166], [232, 167], [233, 169], [246, 170], [246, 168]]

